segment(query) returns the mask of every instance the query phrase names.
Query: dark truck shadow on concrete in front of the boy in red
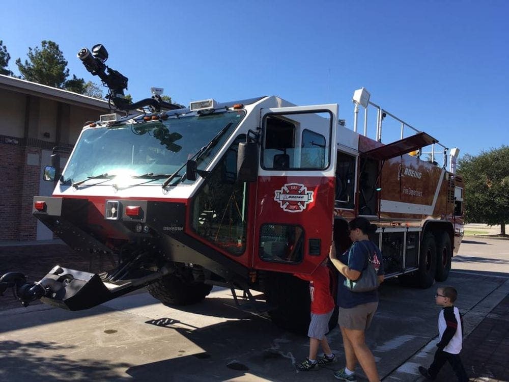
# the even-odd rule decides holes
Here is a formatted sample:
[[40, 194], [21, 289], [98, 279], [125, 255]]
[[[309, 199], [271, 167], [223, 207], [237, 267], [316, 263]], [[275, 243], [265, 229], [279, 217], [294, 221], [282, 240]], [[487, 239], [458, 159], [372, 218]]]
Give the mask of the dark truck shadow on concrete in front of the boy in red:
[[[307, 355], [307, 338], [281, 332], [270, 321], [253, 317], [193, 331], [171, 329], [203, 351], [186, 354], [185, 350], [176, 349], [172, 359], [133, 366], [126, 373], [135, 380], [151, 381], [231, 380], [246, 376], [277, 381], [309, 380], [309, 373], [295, 369], [296, 363]], [[249, 341], [245, 340], [246, 333]], [[341, 347], [341, 344], [334, 345]], [[342, 352], [336, 355], [343, 357]], [[336, 365], [323, 367], [313, 372], [313, 376], [332, 379]]]

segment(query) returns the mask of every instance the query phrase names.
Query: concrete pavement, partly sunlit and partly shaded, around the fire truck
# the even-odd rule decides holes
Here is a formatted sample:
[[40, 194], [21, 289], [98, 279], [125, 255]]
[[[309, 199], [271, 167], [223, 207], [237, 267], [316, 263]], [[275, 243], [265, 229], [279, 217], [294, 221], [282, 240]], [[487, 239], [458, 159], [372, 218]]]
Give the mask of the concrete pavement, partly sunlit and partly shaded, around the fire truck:
[[[509, 244], [500, 240], [492, 244], [478, 237], [465, 240], [475, 254], [483, 247], [487, 253], [502, 253]], [[36, 278], [44, 275], [55, 259], [67, 261], [69, 267], [88, 265], [67, 253], [66, 247], [48, 245], [0, 248], [0, 273], [5, 266], [17, 263]], [[479, 255], [472, 257], [461, 248], [460, 254], [455, 266], [471, 267], [479, 261]], [[507, 260], [494, 256], [485, 260], [479, 271], [454, 270], [446, 284], [461, 285], [458, 307], [465, 314], [466, 335], [462, 358], [471, 380], [509, 381], [505, 361], [509, 354]], [[97, 265], [98, 260], [93, 262], [93, 267]], [[214, 293], [204, 305], [188, 309], [164, 307], [142, 292], [83, 312], [44, 305], [8, 309], [19, 305], [14, 301], [5, 305], [2, 297], [0, 377], [20, 382], [334, 380], [332, 371], [341, 364], [311, 375], [296, 372], [294, 365], [306, 356], [307, 340], [281, 332], [262, 317], [228, 307], [232, 304], [228, 291], [216, 289]], [[439, 308], [433, 304], [434, 293], [434, 288], [409, 289], [397, 283], [384, 286], [377, 317], [367, 335], [383, 380], [423, 380], [417, 366], [430, 364], [438, 340]], [[329, 341], [343, 358], [341, 334], [331, 332]], [[448, 369], [444, 367], [439, 380], [455, 380]]]

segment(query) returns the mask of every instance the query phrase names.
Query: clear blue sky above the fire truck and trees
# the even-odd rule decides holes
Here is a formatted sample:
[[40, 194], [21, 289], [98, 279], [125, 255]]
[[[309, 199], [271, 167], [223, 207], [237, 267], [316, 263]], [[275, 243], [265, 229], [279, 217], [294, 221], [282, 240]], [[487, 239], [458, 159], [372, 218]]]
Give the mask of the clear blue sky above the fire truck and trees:
[[[339, 103], [352, 127], [353, 91], [365, 87], [390, 113], [459, 147], [460, 157], [509, 144], [505, 0], [4, 0], [1, 10], [15, 74], [17, 58], [52, 40], [71, 75], [99, 83], [76, 53], [102, 43], [135, 101], [152, 86], [182, 104], [278, 95]], [[374, 138], [374, 125], [368, 133]], [[388, 143], [399, 129], [387, 123], [383, 133]]]

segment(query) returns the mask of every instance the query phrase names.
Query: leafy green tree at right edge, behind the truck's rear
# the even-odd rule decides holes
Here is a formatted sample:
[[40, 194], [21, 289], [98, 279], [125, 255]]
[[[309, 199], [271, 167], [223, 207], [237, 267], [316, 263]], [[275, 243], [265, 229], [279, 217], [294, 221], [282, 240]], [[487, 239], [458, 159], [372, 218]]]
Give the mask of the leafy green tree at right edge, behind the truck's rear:
[[509, 223], [509, 146], [466, 154], [458, 161], [458, 172], [465, 182], [467, 222], [500, 224], [505, 235]]

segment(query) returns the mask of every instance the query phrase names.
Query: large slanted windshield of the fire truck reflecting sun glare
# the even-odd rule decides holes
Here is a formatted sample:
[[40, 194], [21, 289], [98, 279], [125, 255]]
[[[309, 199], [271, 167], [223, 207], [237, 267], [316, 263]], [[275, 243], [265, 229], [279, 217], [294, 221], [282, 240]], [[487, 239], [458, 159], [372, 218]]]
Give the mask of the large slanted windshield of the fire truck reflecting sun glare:
[[[197, 159], [198, 169], [204, 170], [217, 154], [232, 131], [244, 117], [244, 111], [233, 111], [171, 118], [113, 127], [94, 127], [84, 130], [76, 143], [64, 171], [64, 183], [87, 182], [93, 177], [107, 174], [108, 179], [97, 184], [115, 183], [115, 177], [139, 182], [139, 176], [154, 176], [147, 184], [159, 184], [167, 174], [173, 174], [216, 136], [225, 126], [229, 127], [214, 140]], [[136, 178], [138, 177], [138, 178]], [[111, 180], [109, 179], [111, 178]], [[176, 177], [173, 183], [182, 181]], [[183, 183], [191, 183], [183, 180]], [[86, 183], [88, 184], [88, 183]]]

